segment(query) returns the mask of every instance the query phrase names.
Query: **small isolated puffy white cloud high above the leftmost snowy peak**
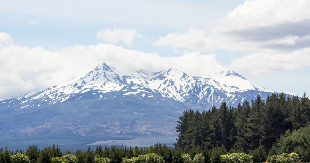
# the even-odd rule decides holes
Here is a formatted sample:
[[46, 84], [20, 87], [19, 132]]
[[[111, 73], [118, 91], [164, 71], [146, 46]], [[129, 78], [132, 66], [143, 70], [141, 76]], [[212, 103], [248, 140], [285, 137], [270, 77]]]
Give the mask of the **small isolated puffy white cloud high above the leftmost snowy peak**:
[[98, 30], [97, 38], [100, 38], [103, 41], [107, 41], [109, 43], [122, 42], [123, 44], [130, 47], [135, 38], [141, 38], [141, 34], [139, 34], [135, 29], [119, 29], [114, 26], [113, 30], [108, 28]]

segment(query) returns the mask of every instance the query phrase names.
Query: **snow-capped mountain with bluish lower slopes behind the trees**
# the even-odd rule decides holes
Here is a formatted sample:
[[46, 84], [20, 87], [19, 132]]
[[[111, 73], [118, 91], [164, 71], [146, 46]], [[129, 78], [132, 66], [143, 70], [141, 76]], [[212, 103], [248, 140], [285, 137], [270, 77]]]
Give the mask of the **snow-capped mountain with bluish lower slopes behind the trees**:
[[47, 89], [0, 102], [0, 134], [84, 136], [176, 135], [186, 109], [237, 106], [274, 91], [231, 70], [192, 77], [176, 69], [120, 75], [105, 63], [89, 73]]

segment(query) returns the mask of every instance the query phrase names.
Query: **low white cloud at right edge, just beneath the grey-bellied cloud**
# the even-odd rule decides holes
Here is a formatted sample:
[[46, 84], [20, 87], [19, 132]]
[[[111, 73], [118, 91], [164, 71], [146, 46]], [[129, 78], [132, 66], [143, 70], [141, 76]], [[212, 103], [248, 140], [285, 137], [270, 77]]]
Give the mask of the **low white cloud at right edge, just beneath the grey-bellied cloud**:
[[266, 74], [279, 71], [299, 70], [310, 66], [310, 48], [293, 53], [253, 52], [233, 60], [232, 70], [248, 71], [252, 74]]

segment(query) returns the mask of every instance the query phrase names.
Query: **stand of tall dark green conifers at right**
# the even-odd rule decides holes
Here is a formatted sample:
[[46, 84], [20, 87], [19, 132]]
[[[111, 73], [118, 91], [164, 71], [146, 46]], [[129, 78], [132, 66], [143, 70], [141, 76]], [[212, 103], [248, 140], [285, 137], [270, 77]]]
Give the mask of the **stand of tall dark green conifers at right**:
[[[303, 97], [273, 93], [266, 100], [258, 94], [251, 105], [244, 101], [237, 107], [222, 103], [219, 108], [213, 106], [209, 111], [185, 111], [179, 116], [176, 126], [179, 136], [175, 147], [185, 149], [201, 146], [212, 149], [223, 145], [228, 150], [238, 149], [249, 153], [263, 148], [277, 154], [277, 146], [281, 146], [277, 140], [280, 141], [281, 135], [283, 137], [285, 133], [288, 135], [305, 128], [309, 122], [310, 100], [305, 93]], [[303, 136], [310, 137], [310, 132], [304, 132]], [[290, 147], [287, 152], [293, 152], [296, 147], [298, 145]], [[308, 149], [299, 149], [299, 153], [307, 153], [305, 150]], [[310, 155], [310, 152], [307, 154]]]

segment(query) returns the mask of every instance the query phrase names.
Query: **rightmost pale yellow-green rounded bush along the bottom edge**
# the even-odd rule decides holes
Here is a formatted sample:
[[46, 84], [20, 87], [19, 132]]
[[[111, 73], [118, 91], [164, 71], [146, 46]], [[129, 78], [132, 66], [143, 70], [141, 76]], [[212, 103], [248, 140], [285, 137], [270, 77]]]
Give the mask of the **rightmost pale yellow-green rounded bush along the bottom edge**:
[[283, 153], [281, 155], [272, 155], [267, 159], [268, 163], [294, 163], [300, 162], [299, 156], [296, 153]]

